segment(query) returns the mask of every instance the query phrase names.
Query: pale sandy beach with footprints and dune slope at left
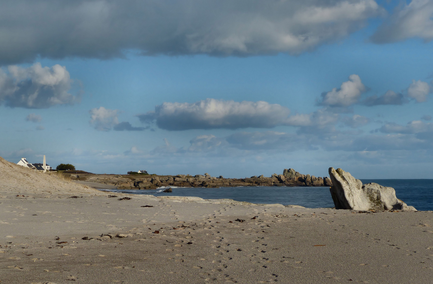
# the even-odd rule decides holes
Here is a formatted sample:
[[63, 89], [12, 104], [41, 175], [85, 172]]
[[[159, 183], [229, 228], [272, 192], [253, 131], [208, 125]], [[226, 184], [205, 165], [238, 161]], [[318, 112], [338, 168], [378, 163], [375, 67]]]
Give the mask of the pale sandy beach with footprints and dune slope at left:
[[432, 211], [109, 197], [9, 164], [0, 283], [433, 282]]

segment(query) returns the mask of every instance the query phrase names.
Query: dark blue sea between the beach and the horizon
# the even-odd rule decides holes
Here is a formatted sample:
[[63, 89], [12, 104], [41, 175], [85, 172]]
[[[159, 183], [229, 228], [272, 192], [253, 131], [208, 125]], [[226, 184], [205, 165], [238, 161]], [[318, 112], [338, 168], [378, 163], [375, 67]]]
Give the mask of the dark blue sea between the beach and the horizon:
[[[361, 179], [362, 183], [375, 182], [395, 189], [397, 198], [414, 206], [419, 211], [433, 211], [433, 179]], [[162, 192], [168, 187], [154, 190], [100, 189], [116, 193], [141, 195], [197, 196], [204, 199], [229, 198], [255, 204], [280, 203], [301, 205], [308, 208], [334, 207], [329, 187], [309, 186], [239, 186], [220, 188], [179, 188], [171, 186], [173, 192]]]

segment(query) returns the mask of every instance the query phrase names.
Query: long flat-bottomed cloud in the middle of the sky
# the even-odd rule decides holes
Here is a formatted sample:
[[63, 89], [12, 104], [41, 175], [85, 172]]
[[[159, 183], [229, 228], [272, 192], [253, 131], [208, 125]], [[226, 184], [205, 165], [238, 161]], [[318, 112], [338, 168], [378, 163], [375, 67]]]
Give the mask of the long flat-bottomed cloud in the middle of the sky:
[[290, 110], [268, 102], [206, 99], [195, 103], [164, 102], [155, 111], [137, 115], [166, 130], [272, 128], [287, 124]]

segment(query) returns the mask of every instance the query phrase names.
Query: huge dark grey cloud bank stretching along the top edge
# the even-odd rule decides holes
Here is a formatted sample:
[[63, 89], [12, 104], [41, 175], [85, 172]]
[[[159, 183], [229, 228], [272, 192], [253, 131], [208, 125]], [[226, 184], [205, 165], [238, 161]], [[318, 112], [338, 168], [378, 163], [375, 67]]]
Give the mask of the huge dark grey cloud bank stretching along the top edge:
[[378, 16], [374, 0], [13, 0], [0, 10], [0, 64], [36, 57], [299, 54]]

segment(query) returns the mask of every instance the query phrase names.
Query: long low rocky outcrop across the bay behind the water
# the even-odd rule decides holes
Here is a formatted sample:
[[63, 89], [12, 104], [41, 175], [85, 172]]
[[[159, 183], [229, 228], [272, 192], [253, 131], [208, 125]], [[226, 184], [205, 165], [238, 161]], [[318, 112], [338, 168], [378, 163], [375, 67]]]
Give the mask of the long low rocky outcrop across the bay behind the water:
[[284, 169], [282, 175], [273, 174], [271, 177], [252, 176], [244, 179], [224, 179], [223, 176], [213, 177], [204, 175], [96, 175], [79, 174], [71, 175], [71, 179], [99, 182], [106, 185], [114, 185], [119, 189], [155, 189], [161, 186], [178, 187], [233, 187], [233, 186], [330, 186], [328, 177], [315, 177], [303, 175], [294, 169]]

